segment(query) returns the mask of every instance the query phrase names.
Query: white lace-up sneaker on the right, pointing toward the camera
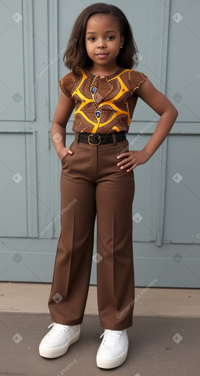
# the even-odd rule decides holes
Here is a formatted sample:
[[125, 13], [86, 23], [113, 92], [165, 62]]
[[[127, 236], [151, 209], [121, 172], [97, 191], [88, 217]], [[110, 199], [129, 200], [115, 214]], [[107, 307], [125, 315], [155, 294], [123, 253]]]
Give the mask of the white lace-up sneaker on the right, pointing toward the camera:
[[126, 329], [105, 329], [100, 338], [104, 336], [97, 351], [97, 366], [100, 368], [115, 368], [126, 359], [128, 352], [128, 337]]

